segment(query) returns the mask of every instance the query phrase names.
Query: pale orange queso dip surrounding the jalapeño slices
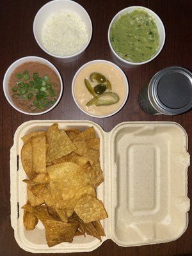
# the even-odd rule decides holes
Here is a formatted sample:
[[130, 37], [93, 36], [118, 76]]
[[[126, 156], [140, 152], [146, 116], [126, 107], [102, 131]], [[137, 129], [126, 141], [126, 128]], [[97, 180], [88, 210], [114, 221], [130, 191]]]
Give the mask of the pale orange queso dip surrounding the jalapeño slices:
[[[90, 75], [100, 74], [106, 77], [106, 80], [110, 83], [110, 89], [106, 89], [106, 92], [101, 95], [96, 95], [102, 102], [113, 102], [114, 95], [118, 100], [113, 104], [104, 104], [102, 106], [96, 106], [95, 104], [88, 104], [91, 100], [94, 100], [94, 96], [85, 84], [85, 79], [88, 81], [92, 88], [95, 88], [99, 83], [97, 81], [91, 81]], [[126, 77], [122, 74], [118, 67], [113, 66], [107, 61], [100, 61], [97, 63], [90, 63], [83, 67], [79, 74], [74, 78], [73, 93], [79, 108], [83, 109], [86, 113], [93, 116], [108, 116], [111, 113], [118, 111], [125, 103], [127, 98], [127, 81]], [[111, 96], [112, 95], [112, 96]], [[96, 99], [95, 98], [95, 99]]]

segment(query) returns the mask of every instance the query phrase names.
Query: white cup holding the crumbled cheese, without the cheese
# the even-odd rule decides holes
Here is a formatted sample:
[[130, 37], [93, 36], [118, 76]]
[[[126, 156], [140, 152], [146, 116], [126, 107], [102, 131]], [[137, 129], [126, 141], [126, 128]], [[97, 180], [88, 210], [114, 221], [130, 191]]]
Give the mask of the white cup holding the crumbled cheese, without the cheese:
[[[42, 42], [42, 29], [44, 27], [45, 20], [47, 17], [52, 15], [53, 13], [66, 11], [70, 13], [76, 13], [81, 19], [81, 22], [84, 23], [86, 27], [86, 33], [88, 34], [88, 41], [86, 44], [81, 48], [80, 51], [67, 55], [67, 56], [60, 56], [45, 49], [44, 44]], [[86, 12], [86, 10], [80, 4], [76, 3], [75, 1], [70, 0], [54, 0], [50, 1], [49, 3], [45, 4], [38, 10], [36, 13], [34, 22], [33, 22], [33, 34], [35, 36], [35, 40], [40, 48], [46, 52], [47, 54], [59, 58], [60, 60], [64, 61], [65, 63], [75, 61], [81, 54], [86, 50], [88, 45], [90, 44], [90, 40], [92, 39], [92, 20], [90, 16]], [[58, 43], [60, 45], [60, 43]]]

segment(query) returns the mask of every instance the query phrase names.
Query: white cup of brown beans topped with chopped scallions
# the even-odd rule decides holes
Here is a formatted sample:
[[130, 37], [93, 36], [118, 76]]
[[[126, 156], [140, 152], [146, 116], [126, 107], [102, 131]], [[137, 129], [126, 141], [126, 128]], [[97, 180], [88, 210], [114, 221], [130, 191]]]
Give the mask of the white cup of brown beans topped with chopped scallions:
[[10, 105], [20, 113], [42, 115], [60, 101], [63, 81], [50, 61], [26, 56], [6, 70], [3, 90]]

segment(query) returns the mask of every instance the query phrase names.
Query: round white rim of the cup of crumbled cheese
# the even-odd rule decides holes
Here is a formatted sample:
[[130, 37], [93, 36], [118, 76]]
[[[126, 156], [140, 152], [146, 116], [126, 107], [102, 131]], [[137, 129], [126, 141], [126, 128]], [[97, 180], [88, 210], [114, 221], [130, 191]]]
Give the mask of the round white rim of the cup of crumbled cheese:
[[[90, 23], [90, 36], [88, 37], [88, 42], [86, 42], [86, 44], [84, 45], [84, 47], [80, 51], [78, 51], [78, 52], [76, 52], [74, 54], [68, 55], [68, 56], [60, 56], [60, 55], [56, 55], [56, 54], [54, 54], [52, 52], [47, 51], [47, 49], [45, 49], [45, 47], [42, 44], [40, 44], [40, 42], [39, 42], [39, 40], [38, 40], [38, 38], [36, 36], [35, 24], [36, 24], [36, 20], [38, 19], [38, 15], [40, 15], [40, 12], [42, 12], [42, 10], [45, 8], [45, 6], [52, 5], [52, 4], [56, 3], [56, 2], [63, 2], [63, 3], [70, 2], [70, 3], [75, 4], [76, 6], [78, 6], [79, 8], [81, 8], [83, 10], [84, 14], [88, 17], [88, 21]], [[63, 9], [63, 10], [65, 10], [65, 9]], [[42, 51], [46, 52], [50, 56], [52, 56], [54, 58], [60, 58], [61, 60], [72, 59], [72, 58], [75, 58], [75, 57], [79, 56], [81, 53], [83, 53], [86, 50], [86, 48], [88, 47], [88, 45], [90, 44], [90, 41], [92, 40], [92, 35], [93, 35], [92, 19], [90, 18], [90, 15], [84, 9], [84, 7], [81, 4], [79, 4], [79, 3], [75, 2], [75, 1], [72, 1], [72, 0], [52, 0], [52, 1], [48, 2], [48, 3], [45, 3], [38, 10], [38, 12], [36, 13], [35, 18], [33, 20], [33, 35], [35, 37], [36, 43], [42, 49]]]

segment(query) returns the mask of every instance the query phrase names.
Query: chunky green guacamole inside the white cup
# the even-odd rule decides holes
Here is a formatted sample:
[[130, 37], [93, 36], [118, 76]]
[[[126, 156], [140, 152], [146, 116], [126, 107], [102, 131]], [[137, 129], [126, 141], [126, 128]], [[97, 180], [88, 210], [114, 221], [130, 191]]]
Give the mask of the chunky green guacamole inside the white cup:
[[138, 9], [122, 15], [110, 30], [111, 45], [122, 59], [142, 62], [154, 56], [159, 47], [159, 33], [154, 19]]

